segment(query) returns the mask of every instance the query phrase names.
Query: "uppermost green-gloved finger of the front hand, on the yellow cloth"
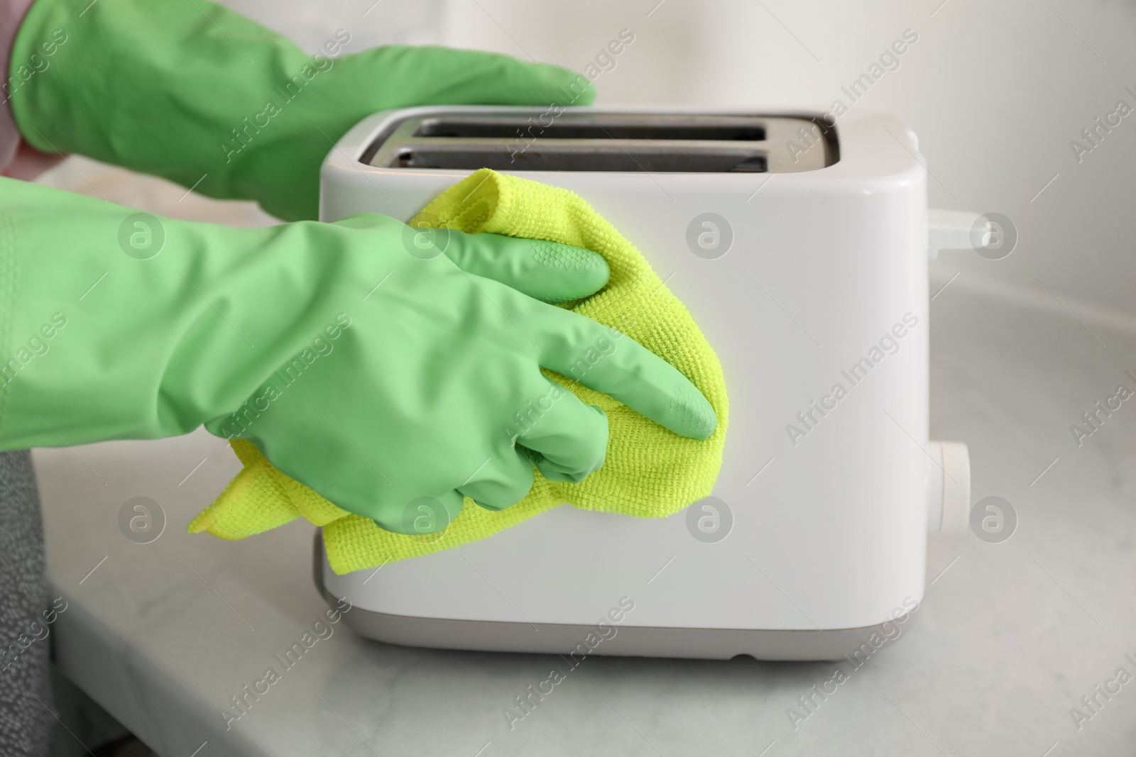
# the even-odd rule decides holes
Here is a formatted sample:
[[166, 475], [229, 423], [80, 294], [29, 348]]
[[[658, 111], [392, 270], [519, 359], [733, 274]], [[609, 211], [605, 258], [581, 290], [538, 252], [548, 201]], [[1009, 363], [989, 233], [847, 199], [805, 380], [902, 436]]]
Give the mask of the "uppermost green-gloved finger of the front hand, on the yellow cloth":
[[444, 230], [433, 236], [434, 244], [461, 270], [544, 302], [591, 296], [610, 275], [603, 255], [559, 242]]

